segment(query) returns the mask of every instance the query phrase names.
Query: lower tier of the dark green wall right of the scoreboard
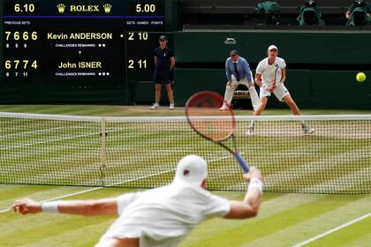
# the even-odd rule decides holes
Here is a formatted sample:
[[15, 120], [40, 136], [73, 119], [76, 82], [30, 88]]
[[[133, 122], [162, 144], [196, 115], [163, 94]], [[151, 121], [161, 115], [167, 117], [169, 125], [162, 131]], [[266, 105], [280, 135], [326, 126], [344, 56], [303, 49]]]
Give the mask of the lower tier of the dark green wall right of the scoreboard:
[[[356, 72], [292, 70], [288, 71], [285, 86], [301, 109], [371, 109], [371, 85], [356, 82]], [[370, 78], [371, 71], [366, 73]], [[224, 94], [223, 69], [178, 69], [176, 78], [178, 106], [198, 91]], [[276, 98], [269, 101], [269, 106], [287, 108]]]

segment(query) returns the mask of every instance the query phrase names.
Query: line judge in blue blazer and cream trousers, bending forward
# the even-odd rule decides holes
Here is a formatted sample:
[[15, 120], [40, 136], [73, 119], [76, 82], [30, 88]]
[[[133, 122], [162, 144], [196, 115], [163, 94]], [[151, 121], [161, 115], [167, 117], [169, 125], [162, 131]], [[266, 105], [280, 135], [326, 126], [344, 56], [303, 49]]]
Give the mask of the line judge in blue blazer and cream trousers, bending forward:
[[[234, 91], [240, 84], [247, 86], [250, 93], [250, 99], [254, 110], [258, 108], [260, 100], [254, 86], [253, 72], [246, 59], [239, 56], [239, 51], [231, 50], [230, 57], [225, 61], [225, 74], [227, 76], [227, 85], [225, 86], [224, 101], [231, 105]], [[225, 103], [219, 110], [226, 110]]]

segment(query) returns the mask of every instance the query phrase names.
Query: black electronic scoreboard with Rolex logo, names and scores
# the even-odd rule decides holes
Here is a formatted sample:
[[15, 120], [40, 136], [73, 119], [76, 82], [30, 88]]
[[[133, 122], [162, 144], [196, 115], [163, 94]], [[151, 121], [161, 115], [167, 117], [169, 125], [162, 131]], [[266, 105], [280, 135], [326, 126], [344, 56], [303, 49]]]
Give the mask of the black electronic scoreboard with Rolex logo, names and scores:
[[2, 0], [0, 86], [125, 92], [152, 80], [165, 2]]

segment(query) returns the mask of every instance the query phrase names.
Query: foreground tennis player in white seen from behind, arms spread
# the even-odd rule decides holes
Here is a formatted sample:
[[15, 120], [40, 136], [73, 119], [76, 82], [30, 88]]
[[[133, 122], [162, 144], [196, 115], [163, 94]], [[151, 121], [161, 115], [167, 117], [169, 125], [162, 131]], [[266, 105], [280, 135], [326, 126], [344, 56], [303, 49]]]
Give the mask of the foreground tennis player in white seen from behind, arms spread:
[[205, 190], [207, 162], [188, 155], [178, 162], [172, 183], [154, 190], [123, 194], [117, 198], [65, 200], [38, 203], [20, 199], [15, 212], [117, 215], [96, 246], [177, 246], [202, 220], [210, 217], [246, 219], [259, 211], [262, 197], [261, 172], [251, 168], [243, 201], [227, 200]]

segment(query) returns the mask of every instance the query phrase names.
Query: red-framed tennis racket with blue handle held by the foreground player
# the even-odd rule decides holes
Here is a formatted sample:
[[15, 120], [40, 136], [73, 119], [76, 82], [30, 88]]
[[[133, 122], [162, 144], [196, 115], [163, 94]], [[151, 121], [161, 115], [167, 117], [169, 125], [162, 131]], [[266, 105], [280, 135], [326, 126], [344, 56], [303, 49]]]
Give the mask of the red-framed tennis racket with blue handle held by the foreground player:
[[[223, 103], [227, 109], [219, 111]], [[193, 131], [196, 131], [201, 137], [223, 146], [233, 154], [244, 173], [248, 172], [249, 167], [237, 150], [234, 137], [236, 122], [233, 110], [222, 96], [208, 91], [193, 94], [186, 102], [186, 119]], [[229, 138], [233, 143], [233, 149], [223, 144]]]

